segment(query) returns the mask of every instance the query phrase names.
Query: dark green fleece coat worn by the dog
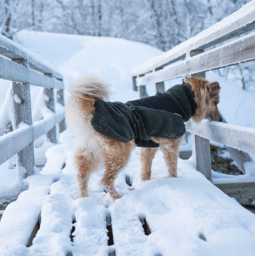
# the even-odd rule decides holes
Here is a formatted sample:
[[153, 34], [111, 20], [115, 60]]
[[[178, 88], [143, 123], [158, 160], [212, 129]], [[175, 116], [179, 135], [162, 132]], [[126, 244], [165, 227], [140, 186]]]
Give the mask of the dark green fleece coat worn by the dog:
[[196, 111], [194, 92], [190, 84], [175, 85], [161, 95], [122, 102], [95, 101], [92, 127], [110, 138], [137, 146], [148, 144], [151, 137], [179, 138], [185, 133], [184, 122]]

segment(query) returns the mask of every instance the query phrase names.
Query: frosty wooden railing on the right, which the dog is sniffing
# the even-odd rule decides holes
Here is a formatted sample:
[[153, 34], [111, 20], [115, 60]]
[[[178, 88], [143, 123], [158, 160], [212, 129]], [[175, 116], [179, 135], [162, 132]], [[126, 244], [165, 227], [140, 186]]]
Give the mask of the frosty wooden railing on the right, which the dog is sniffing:
[[[205, 72], [255, 60], [255, 1], [244, 5], [221, 22], [152, 58], [131, 70], [133, 89], [139, 87], [140, 97], [146, 97], [146, 85], [156, 84], [164, 90], [164, 81], [177, 77], [205, 77]], [[223, 143], [238, 162], [251, 161], [255, 155], [255, 129], [203, 120], [189, 121], [186, 128], [192, 133], [193, 155], [197, 170], [211, 180], [209, 140]], [[243, 169], [244, 170], [244, 169]], [[237, 186], [238, 184], [238, 186]], [[255, 196], [255, 183], [217, 184], [233, 197]]]

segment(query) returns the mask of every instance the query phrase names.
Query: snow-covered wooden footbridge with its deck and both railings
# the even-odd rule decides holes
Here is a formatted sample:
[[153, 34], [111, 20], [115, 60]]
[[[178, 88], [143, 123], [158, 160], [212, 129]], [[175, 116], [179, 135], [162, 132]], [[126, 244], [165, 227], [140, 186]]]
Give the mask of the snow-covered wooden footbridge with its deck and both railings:
[[[156, 84], [156, 91], [162, 91], [166, 80], [201, 77], [208, 70], [255, 60], [254, 29], [252, 1], [133, 68], [133, 88], [144, 97], [148, 85]], [[195, 169], [181, 170], [177, 179], [153, 179], [135, 187], [137, 167], [131, 164], [117, 181], [117, 189], [125, 194], [121, 199], [113, 203], [100, 189], [89, 198], [77, 198], [76, 176], [70, 172], [72, 152], [64, 153], [64, 143], [52, 147], [52, 152], [65, 155], [58, 172], [47, 172], [50, 168], [34, 172], [33, 141], [47, 134], [56, 143], [58, 132], [66, 132], [64, 109], [56, 108], [56, 102], [64, 105], [62, 75], [4, 37], [0, 37], [0, 55], [0, 78], [13, 81], [16, 98], [13, 131], [0, 137], [0, 164], [17, 154], [19, 178], [26, 178], [28, 186], [3, 213], [0, 255], [254, 255], [255, 215], [226, 194], [255, 196], [255, 180], [245, 174], [225, 183], [212, 180], [209, 140], [226, 145], [245, 172], [244, 162], [251, 162], [249, 154], [255, 155], [255, 129], [207, 120], [188, 122], [193, 158], [180, 161], [189, 169], [195, 162], [205, 177]], [[44, 87], [49, 109], [36, 122], [31, 118], [30, 84]], [[46, 165], [56, 163], [51, 160]], [[101, 171], [94, 175], [100, 176]]]

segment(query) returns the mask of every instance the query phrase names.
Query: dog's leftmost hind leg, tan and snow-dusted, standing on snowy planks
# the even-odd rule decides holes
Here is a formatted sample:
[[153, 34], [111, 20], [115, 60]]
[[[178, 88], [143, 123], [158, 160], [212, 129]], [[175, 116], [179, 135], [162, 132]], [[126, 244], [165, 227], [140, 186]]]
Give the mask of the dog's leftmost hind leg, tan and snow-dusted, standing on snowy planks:
[[80, 197], [88, 197], [89, 176], [97, 168], [97, 161], [94, 160], [93, 156], [85, 157], [76, 152], [75, 162], [78, 168], [77, 180], [79, 183]]

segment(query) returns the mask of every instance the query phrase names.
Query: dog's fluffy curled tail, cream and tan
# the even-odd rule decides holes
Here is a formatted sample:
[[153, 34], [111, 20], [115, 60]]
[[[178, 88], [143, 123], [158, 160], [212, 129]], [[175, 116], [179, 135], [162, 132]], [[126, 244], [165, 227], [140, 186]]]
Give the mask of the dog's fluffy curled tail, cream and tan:
[[110, 87], [93, 75], [79, 77], [69, 92], [71, 97], [65, 105], [65, 120], [72, 130], [92, 118], [95, 99], [108, 100], [111, 94]]

